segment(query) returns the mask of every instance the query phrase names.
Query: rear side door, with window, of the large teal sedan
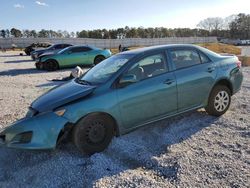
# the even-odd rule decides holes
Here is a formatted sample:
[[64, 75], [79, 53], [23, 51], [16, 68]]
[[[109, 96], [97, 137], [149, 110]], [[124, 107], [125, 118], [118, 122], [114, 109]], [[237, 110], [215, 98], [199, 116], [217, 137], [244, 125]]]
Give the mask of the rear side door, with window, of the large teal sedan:
[[175, 48], [168, 54], [175, 69], [178, 111], [204, 104], [216, 78], [215, 64], [195, 48]]

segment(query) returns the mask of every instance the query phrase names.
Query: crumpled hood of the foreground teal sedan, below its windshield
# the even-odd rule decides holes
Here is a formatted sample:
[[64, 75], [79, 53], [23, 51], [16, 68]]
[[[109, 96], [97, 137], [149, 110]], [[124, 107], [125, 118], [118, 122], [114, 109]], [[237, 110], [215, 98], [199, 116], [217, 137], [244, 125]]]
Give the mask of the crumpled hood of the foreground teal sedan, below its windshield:
[[31, 107], [39, 112], [50, 111], [87, 96], [95, 88], [96, 86], [80, 85], [72, 80], [43, 94], [31, 104]]

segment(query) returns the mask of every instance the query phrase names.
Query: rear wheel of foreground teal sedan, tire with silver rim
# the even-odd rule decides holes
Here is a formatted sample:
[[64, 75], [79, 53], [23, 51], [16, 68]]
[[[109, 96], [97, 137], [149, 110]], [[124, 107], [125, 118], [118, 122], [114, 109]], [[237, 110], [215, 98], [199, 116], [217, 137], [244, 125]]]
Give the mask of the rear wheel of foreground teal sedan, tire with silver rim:
[[227, 86], [215, 86], [209, 96], [206, 112], [212, 116], [221, 116], [224, 114], [231, 103], [231, 91]]

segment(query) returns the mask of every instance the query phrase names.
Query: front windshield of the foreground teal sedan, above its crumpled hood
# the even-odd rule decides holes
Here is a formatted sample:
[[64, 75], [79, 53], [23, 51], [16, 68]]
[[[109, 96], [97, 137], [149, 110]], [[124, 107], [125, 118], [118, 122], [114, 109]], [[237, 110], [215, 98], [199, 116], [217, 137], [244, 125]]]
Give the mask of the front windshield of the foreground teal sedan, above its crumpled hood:
[[80, 80], [92, 84], [101, 84], [106, 82], [114, 73], [116, 73], [132, 55], [119, 54], [114, 55], [94, 66]]

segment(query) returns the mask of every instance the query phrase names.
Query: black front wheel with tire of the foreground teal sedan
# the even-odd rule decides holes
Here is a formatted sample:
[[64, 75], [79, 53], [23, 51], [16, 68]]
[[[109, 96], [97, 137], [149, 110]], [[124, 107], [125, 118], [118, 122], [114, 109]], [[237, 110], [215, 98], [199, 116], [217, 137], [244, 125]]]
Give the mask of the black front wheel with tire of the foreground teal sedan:
[[94, 154], [108, 147], [114, 136], [114, 121], [105, 114], [90, 114], [73, 129], [73, 142], [83, 153]]

